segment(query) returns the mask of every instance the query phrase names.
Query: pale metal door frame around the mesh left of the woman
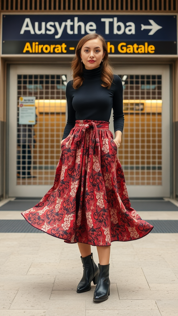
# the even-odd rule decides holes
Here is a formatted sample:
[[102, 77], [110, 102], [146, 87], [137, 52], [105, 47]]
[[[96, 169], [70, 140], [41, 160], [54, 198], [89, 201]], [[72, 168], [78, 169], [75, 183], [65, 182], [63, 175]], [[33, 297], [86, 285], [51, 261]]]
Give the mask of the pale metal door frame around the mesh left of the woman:
[[[9, 80], [9, 155], [8, 196], [9, 197], [43, 197], [51, 185], [16, 185], [16, 119], [17, 117], [17, 75], [67, 75], [67, 82], [72, 79], [69, 65], [60, 64], [11, 64]], [[67, 109], [66, 109], [67, 119]], [[15, 153], [15, 157], [13, 155]], [[56, 166], [57, 167], [57, 166]]]

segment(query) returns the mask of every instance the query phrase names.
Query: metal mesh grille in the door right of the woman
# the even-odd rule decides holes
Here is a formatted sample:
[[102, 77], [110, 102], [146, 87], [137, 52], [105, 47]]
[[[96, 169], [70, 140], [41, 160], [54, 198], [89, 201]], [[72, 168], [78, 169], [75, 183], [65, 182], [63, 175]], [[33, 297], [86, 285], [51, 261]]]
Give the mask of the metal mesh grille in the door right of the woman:
[[124, 132], [119, 160], [127, 185], [162, 185], [162, 76], [119, 75]]

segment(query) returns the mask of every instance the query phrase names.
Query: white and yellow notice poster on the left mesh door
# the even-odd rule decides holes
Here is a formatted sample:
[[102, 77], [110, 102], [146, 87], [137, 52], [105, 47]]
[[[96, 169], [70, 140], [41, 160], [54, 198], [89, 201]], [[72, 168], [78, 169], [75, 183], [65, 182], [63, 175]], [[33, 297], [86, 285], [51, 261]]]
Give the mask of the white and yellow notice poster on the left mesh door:
[[36, 97], [19, 97], [19, 124], [36, 124], [35, 114]]

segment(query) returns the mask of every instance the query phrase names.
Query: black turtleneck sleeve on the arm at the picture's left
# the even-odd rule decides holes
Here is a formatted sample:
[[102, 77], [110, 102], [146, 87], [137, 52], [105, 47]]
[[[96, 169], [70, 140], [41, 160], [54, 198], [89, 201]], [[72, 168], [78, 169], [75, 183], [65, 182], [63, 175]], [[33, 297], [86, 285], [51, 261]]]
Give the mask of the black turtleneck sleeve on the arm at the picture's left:
[[66, 138], [72, 128], [75, 126], [75, 110], [72, 106], [72, 95], [71, 95], [72, 82], [69, 81], [66, 86], [66, 99], [67, 99], [67, 124], [64, 129], [62, 140]]

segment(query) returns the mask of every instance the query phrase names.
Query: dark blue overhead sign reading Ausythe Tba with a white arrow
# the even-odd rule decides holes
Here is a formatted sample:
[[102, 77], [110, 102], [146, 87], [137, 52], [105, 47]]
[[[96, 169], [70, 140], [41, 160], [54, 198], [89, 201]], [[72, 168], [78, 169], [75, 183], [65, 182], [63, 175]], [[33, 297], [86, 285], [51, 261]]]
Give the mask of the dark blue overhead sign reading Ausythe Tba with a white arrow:
[[3, 15], [3, 55], [74, 54], [86, 34], [110, 55], [176, 55], [176, 15]]

